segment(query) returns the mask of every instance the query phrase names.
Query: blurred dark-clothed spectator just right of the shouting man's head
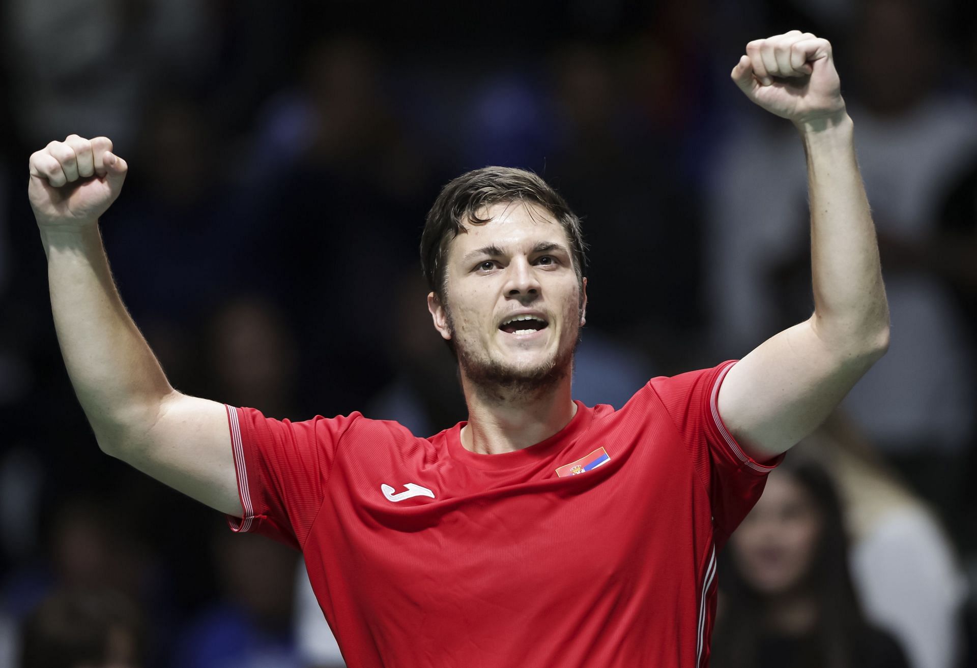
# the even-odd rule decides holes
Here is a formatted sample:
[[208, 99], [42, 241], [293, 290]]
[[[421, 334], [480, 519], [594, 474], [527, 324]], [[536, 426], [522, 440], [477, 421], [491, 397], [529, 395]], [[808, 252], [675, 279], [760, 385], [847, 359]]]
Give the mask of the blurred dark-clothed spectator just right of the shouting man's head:
[[[629, 63], [630, 71], [629, 58], [640, 63]], [[545, 177], [588, 222], [590, 313], [662, 373], [700, 363], [701, 209], [681, 165], [681, 128], [659, 125], [670, 112], [647, 104], [658, 62], [571, 43], [550, 63], [558, 133]], [[625, 258], [621, 239], [643, 259]], [[668, 252], [677, 248], [689, 252]], [[642, 308], [629, 285], [652, 286], [641, 294]]]

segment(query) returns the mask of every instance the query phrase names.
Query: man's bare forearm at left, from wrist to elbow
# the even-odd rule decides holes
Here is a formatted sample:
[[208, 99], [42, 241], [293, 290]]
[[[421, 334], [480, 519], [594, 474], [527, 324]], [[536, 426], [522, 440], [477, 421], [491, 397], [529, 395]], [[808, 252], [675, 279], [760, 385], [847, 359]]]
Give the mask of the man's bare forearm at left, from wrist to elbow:
[[107, 450], [149, 429], [173, 389], [119, 298], [98, 226], [42, 227], [41, 239], [64, 365]]

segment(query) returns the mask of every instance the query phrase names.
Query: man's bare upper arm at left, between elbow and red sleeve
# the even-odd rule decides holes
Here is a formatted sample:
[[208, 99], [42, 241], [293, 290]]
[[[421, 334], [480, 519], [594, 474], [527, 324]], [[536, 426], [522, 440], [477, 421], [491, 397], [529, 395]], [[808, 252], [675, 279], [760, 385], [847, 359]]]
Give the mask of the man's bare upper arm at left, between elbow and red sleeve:
[[160, 404], [152, 426], [116, 456], [215, 510], [241, 516], [223, 403], [175, 392]]

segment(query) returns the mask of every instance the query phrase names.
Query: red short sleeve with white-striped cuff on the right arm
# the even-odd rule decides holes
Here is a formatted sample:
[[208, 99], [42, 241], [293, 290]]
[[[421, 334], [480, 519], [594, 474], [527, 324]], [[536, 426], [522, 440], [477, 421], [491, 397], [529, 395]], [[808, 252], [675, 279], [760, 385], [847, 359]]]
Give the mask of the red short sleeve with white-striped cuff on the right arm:
[[723, 424], [716, 399], [726, 373], [735, 363], [736, 360], [726, 361], [711, 369], [649, 382], [705, 484], [720, 544], [743, 522], [760, 498], [767, 474], [784, 459], [781, 454], [769, 462], [754, 460]]

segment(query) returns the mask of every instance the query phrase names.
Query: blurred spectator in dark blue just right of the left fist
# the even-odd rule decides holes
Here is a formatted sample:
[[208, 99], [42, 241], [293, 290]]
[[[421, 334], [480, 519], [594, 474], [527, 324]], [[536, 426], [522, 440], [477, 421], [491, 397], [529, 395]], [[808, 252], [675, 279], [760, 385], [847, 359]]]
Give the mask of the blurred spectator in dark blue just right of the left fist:
[[170, 325], [168, 335], [184, 349], [191, 348], [187, 324], [248, 285], [244, 256], [262, 245], [248, 225], [255, 199], [227, 169], [237, 156], [222, 133], [201, 101], [182, 91], [159, 94], [137, 150], [146, 169], [129, 184], [139, 201], [120, 203], [103, 230], [112, 271], [129, 286], [121, 288], [129, 309], [150, 330]]

